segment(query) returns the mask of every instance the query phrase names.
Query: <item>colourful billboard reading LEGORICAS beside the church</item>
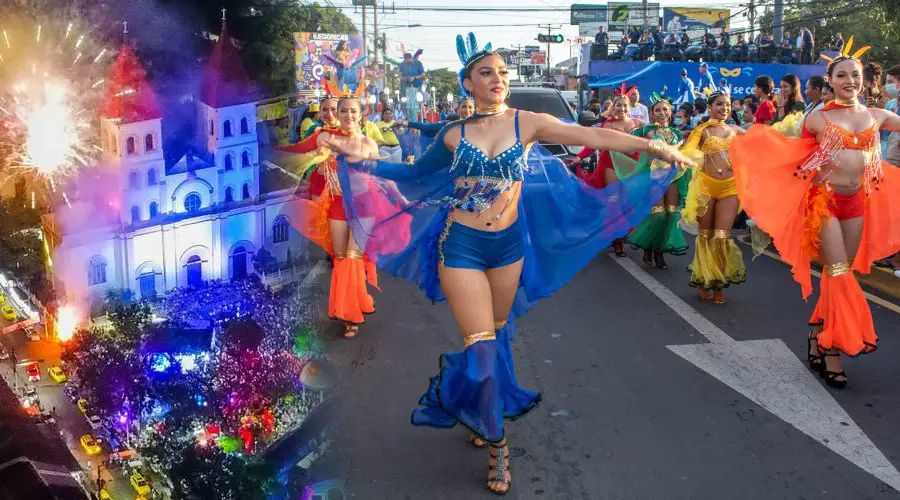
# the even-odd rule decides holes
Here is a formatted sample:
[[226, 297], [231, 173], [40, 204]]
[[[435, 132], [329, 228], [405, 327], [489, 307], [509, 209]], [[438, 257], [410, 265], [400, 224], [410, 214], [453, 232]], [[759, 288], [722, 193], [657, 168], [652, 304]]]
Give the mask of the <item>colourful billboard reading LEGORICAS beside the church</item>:
[[297, 95], [312, 99], [323, 78], [355, 89], [365, 70], [361, 35], [294, 33]]

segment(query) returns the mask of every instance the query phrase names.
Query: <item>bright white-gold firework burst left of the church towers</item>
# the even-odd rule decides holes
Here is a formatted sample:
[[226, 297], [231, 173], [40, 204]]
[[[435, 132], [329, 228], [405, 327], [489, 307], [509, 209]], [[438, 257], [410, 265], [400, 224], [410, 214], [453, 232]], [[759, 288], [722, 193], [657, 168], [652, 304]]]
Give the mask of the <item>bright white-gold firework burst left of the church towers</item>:
[[[77, 20], [0, 24], [0, 184], [38, 177], [41, 198], [93, 163], [109, 53]], [[11, 184], [12, 184], [11, 183]], [[51, 201], [51, 200], [47, 200]], [[34, 201], [32, 201], [34, 204]]]

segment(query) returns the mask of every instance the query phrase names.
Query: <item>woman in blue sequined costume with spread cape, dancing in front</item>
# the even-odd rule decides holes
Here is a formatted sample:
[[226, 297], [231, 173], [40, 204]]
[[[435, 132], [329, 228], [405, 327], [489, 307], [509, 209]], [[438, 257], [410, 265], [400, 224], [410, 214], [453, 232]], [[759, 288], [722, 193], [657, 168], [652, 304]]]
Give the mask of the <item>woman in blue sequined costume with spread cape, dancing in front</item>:
[[[448, 124], [411, 168], [378, 161], [342, 162], [338, 170], [354, 238], [383, 270], [417, 283], [432, 300], [448, 300], [465, 349], [440, 357], [414, 425], [467, 427], [478, 447], [490, 445], [487, 488], [509, 491], [509, 447], [504, 418], [524, 415], [538, 393], [519, 386], [513, 368], [510, 321], [550, 296], [610, 242], [624, 236], [663, 196], [675, 172], [653, 170], [604, 190], [591, 188], [537, 141], [583, 144], [600, 150], [649, 152], [668, 162], [691, 161], [664, 141], [579, 127], [547, 115], [508, 109], [504, 59], [479, 50], [469, 34], [457, 50], [463, 88], [474, 116]], [[358, 153], [345, 139], [328, 147]], [[539, 148], [539, 146], [535, 146]], [[527, 159], [527, 160], [526, 160]], [[385, 193], [414, 200], [394, 214], [366, 207], [370, 181]], [[386, 224], [411, 214], [410, 243], [377, 251], [392, 238]]]

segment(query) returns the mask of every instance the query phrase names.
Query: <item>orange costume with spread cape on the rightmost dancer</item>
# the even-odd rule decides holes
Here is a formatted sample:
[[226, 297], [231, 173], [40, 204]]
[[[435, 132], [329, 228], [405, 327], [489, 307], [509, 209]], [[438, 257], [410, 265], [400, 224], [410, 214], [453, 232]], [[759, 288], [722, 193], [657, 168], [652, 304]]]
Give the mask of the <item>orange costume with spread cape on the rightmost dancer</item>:
[[[829, 104], [824, 111], [837, 106]], [[771, 127], [754, 125], [732, 141], [730, 150], [741, 203], [772, 236], [804, 299], [812, 292], [810, 261], [820, 259], [819, 233], [825, 220], [864, 218], [853, 261], [825, 266], [819, 302], [810, 318], [811, 326], [822, 326], [820, 349], [834, 348], [849, 356], [874, 351], [878, 339], [852, 271], [868, 274], [872, 262], [900, 249], [896, 202], [900, 176], [895, 167], [882, 162], [879, 142], [877, 122], [854, 134], [826, 117], [818, 144], [805, 127], [799, 139], [791, 139]], [[827, 175], [824, 184], [814, 182], [817, 173], [839, 161], [842, 150], [865, 153], [863, 185], [852, 195], [833, 192]]]

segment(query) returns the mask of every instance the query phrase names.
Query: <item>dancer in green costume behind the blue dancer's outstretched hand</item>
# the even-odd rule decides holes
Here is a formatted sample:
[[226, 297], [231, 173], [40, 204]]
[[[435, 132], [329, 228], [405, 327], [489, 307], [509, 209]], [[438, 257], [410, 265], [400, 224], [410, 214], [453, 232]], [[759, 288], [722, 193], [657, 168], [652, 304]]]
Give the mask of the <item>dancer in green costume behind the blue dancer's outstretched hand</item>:
[[[659, 138], [673, 146], [681, 145], [684, 136], [669, 125], [672, 119], [671, 101], [657, 93], [651, 95], [650, 116], [653, 125], [645, 125], [631, 133], [647, 139]], [[628, 235], [628, 243], [644, 250], [644, 263], [648, 266], [655, 263], [659, 269], [668, 269], [663, 254], [684, 255], [687, 251], [688, 246], [679, 227], [678, 211], [684, 208], [690, 178], [689, 171], [679, 171], [666, 189], [666, 194], [650, 210], [650, 215]]]

